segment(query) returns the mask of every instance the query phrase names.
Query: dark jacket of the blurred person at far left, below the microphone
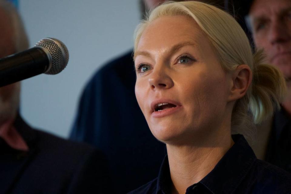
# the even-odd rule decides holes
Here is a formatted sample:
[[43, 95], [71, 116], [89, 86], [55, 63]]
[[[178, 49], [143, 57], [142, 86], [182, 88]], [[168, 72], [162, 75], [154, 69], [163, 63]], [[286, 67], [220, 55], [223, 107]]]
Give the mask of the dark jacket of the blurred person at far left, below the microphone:
[[29, 151], [1, 139], [0, 193], [114, 193], [100, 151], [32, 129], [20, 116], [14, 126]]

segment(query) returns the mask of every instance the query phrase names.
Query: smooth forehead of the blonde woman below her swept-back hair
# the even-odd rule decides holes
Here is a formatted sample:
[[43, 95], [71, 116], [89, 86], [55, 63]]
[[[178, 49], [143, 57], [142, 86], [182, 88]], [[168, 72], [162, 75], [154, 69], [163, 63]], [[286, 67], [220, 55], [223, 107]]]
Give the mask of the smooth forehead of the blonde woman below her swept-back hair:
[[180, 42], [206, 44], [206, 36], [198, 24], [188, 16], [161, 16], [151, 22], [139, 40], [137, 50], [162, 50]]

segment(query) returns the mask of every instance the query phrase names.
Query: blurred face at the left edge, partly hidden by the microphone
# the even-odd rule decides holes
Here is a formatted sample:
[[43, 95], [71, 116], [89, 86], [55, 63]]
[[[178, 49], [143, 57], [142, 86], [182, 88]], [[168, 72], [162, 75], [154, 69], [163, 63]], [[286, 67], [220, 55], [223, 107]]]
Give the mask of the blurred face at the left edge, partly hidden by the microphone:
[[[0, 58], [15, 53], [13, 28], [10, 18], [0, 9]], [[0, 125], [7, 119], [13, 119], [19, 103], [19, 82], [0, 87]]]

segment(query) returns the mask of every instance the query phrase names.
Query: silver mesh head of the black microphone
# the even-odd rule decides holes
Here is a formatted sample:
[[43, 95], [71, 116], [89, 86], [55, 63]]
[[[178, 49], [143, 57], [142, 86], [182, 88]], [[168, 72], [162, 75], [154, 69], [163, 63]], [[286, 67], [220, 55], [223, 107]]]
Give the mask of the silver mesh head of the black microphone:
[[45, 74], [57, 74], [61, 72], [68, 64], [69, 52], [65, 44], [56, 38], [43, 38], [35, 46], [40, 46], [49, 51], [52, 56], [51, 68]]

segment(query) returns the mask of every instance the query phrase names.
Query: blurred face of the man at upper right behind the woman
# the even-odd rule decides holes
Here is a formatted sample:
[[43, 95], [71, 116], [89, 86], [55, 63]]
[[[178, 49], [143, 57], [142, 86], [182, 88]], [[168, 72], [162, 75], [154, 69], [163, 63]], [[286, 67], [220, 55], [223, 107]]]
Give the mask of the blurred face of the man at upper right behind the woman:
[[263, 48], [268, 62], [291, 79], [291, 1], [255, 0], [249, 22], [257, 48]]

